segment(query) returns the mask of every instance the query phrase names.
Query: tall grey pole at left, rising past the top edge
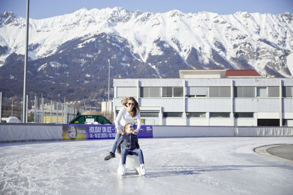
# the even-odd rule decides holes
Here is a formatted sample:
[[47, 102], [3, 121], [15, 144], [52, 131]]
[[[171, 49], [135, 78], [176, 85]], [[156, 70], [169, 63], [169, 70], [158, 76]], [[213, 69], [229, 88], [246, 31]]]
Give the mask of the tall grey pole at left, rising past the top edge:
[[23, 75], [23, 109], [22, 109], [22, 122], [26, 121], [26, 76], [28, 74], [28, 17], [29, 17], [30, 0], [26, 1], [26, 32], [25, 32], [25, 59], [24, 59], [24, 75]]

